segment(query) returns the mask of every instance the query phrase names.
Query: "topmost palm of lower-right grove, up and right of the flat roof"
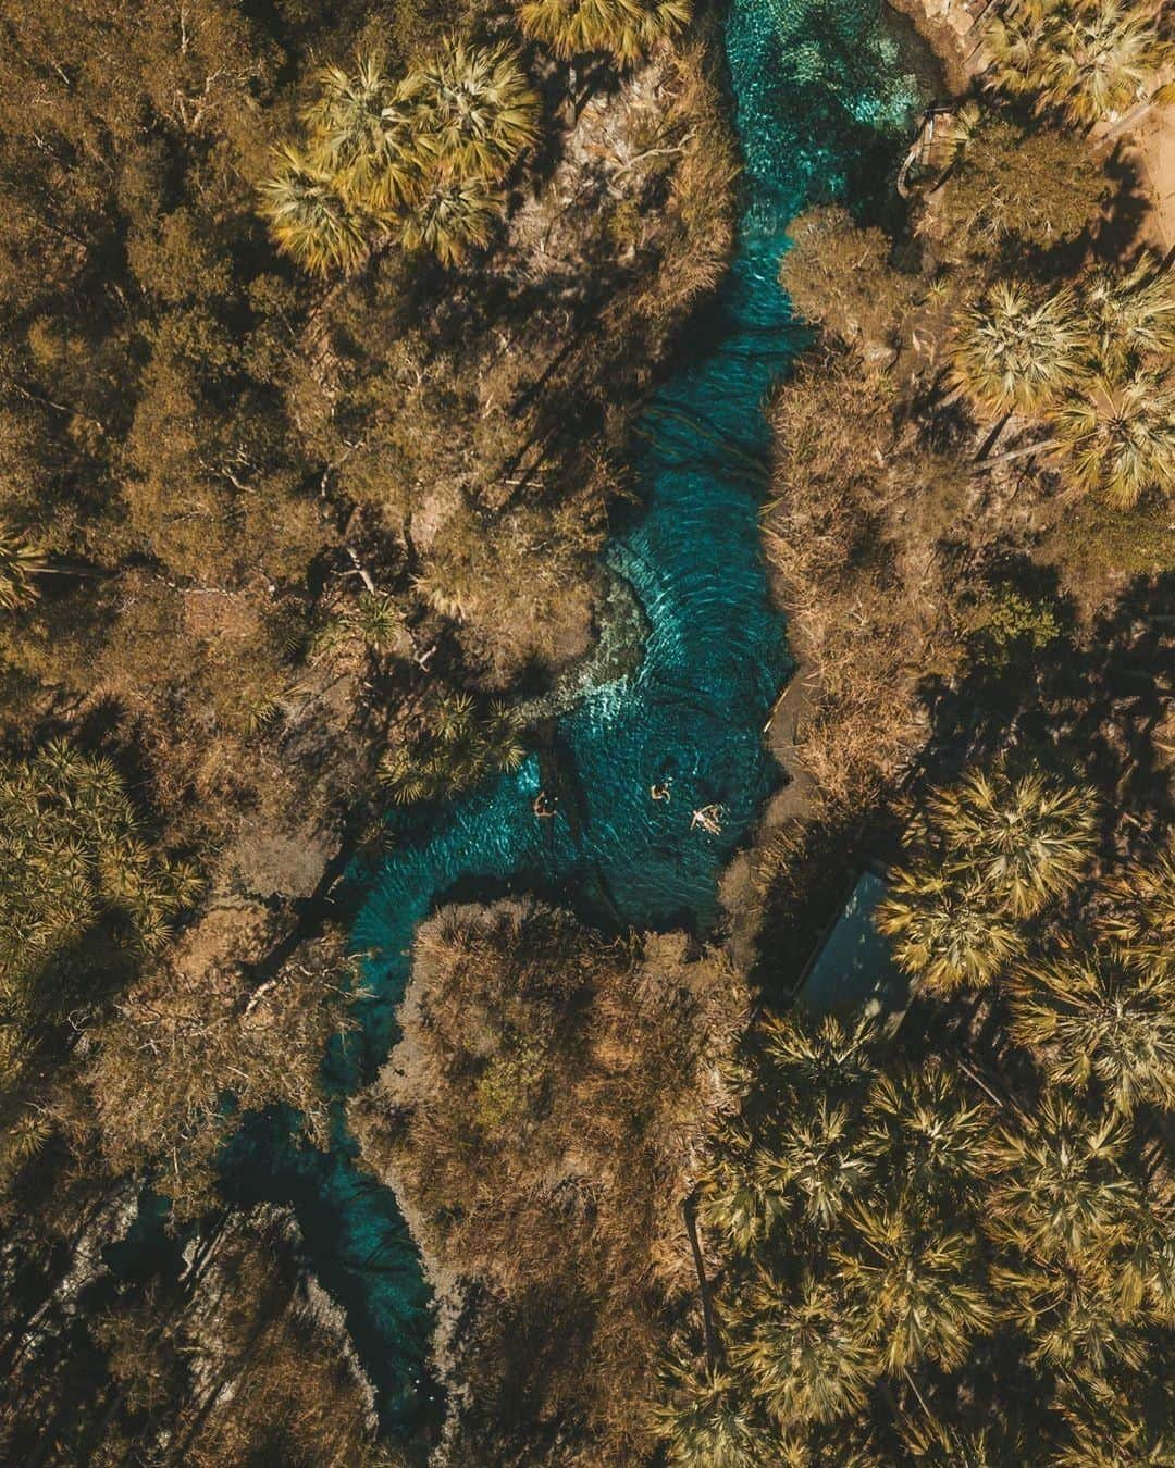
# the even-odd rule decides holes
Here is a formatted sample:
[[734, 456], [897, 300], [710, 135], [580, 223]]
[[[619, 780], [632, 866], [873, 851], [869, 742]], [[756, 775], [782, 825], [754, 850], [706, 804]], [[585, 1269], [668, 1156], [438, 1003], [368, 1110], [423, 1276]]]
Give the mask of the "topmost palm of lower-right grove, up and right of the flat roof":
[[1034, 772], [972, 769], [927, 802], [925, 828], [956, 869], [1015, 918], [1063, 897], [1093, 856], [1097, 804], [1088, 791]]

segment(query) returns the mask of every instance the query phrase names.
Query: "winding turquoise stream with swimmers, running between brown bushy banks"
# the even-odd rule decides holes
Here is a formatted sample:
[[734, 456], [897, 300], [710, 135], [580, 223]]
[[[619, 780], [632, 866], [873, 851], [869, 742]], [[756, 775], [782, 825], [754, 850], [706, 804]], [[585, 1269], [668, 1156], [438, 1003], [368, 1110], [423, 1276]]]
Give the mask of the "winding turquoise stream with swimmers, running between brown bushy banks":
[[[933, 85], [925, 48], [877, 0], [733, 0], [726, 48], [745, 159], [739, 247], [718, 302], [642, 423], [645, 511], [608, 549], [648, 621], [639, 668], [585, 691], [558, 727], [577, 816], [539, 821], [535, 757], [427, 822], [394, 832], [355, 923], [372, 953], [363, 1054], [395, 1038], [413, 932], [454, 895], [539, 890], [605, 923], [704, 929], [717, 875], [777, 769], [761, 731], [789, 674], [756, 533], [768, 451], [761, 404], [803, 335], [778, 286], [789, 222], [808, 203], [877, 206]], [[649, 787], [670, 780], [671, 799]], [[567, 802], [565, 802], [567, 803]], [[720, 807], [721, 831], [692, 824]], [[392, 1195], [354, 1166], [251, 1129], [231, 1164], [245, 1198], [292, 1204], [311, 1262], [347, 1311], [385, 1425], [429, 1414], [429, 1296]]]

